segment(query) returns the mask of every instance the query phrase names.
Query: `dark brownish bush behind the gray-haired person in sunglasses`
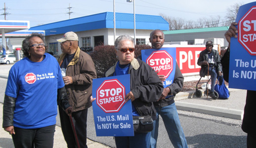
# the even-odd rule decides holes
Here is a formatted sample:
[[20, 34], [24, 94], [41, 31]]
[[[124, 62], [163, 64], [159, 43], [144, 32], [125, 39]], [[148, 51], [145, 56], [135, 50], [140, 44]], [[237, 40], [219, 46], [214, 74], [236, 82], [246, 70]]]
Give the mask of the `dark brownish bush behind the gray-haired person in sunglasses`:
[[[141, 55], [142, 49], [150, 49], [149, 45], [136, 45], [134, 57], [138, 57]], [[97, 77], [103, 77], [104, 73], [108, 68], [113, 66], [118, 60], [114, 46], [106, 45], [106, 46], [96, 46], [94, 51], [91, 52], [91, 57], [93, 58]]]

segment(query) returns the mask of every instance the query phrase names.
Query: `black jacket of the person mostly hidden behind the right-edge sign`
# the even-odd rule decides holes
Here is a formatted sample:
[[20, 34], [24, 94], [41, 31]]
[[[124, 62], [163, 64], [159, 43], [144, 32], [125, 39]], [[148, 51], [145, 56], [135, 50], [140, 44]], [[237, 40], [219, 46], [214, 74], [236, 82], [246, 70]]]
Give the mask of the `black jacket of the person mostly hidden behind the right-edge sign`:
[[[228, 82], [229, 74], [229, 49], [226, 50], [223, 58], [223, 74], [224, 80]], [[256, 136], [256, 91], [247, 91], [246, 104], [244, 109], [244, 118], [242, 123], [242, 130], [248, 134]]]

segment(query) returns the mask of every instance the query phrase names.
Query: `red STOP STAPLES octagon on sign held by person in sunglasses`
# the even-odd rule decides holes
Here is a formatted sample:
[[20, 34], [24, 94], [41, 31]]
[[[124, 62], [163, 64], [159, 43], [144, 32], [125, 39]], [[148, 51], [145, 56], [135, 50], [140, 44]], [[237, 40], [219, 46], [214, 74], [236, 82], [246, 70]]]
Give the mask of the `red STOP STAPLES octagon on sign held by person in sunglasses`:
[[96, 91], [96, 104], [105, 113], [119, 112], [125, 103], [125, 87], [117, 79], [105, 80]]

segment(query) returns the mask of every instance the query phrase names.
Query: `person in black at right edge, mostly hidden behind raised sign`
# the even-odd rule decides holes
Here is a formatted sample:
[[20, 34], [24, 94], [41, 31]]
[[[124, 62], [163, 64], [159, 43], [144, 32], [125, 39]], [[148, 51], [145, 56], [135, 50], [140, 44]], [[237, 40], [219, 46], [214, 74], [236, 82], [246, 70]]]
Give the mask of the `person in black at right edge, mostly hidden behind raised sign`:
[[[222, 64], [224, 65], [224, 79], [228, 82], [229, 72], [229, 49], [230, 49], [230, 38], [237, 38], [238, 33], [235, 27], [237, 23], [232, 23], [229, 29], [225, 33], [227, 42], [229, 43], [228, 49], [222, 58]], [[244, 109], [244, 118], [242, 123], [242, 130], [247, 133], [247, 148], [256, 148], [256, 91], [247, 91], [246, 104]]]

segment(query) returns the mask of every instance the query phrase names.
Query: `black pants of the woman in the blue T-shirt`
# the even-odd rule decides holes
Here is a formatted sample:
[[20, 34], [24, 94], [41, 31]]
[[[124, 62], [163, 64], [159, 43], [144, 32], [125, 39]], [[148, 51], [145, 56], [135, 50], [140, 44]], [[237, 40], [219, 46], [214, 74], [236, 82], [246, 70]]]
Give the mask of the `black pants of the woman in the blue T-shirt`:
[[36, 129], [14, 127], [12, 140], [15, 148], [53, 148], [55, 125]]

